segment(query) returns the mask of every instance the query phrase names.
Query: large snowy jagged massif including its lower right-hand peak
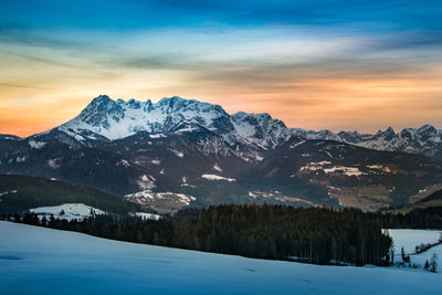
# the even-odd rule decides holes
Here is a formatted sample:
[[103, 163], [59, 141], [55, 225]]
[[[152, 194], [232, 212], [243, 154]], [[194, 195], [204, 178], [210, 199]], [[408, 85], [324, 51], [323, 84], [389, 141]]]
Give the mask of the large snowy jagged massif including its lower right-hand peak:
[[[165, 97], [158, 103], [135, 99], [113, 101], [101, 95], [72, 120], [53, 131], [62, 131], [78, 143], [109, 141], [145, 131], [152, 137], [209, 130], [233, 148], [243, 144], [254, 149], [274, 148], [288, 139], [291, 130], [269, 114], [229, 115], [221, 106]], [[60, 135], [59, 135], [60, 137]]]

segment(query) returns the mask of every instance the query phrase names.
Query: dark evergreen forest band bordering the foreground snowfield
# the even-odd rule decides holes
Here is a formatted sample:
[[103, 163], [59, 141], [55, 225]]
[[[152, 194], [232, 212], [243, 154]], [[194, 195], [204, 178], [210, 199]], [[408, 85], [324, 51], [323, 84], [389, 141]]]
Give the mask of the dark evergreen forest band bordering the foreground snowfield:
[[4, 218], [115, 240], [316, 264], [386, 265], [391, 244], [370, 213], [354, 209], [227, 204], [159, 221], [98, 215], [39, 222], [32, 213]]

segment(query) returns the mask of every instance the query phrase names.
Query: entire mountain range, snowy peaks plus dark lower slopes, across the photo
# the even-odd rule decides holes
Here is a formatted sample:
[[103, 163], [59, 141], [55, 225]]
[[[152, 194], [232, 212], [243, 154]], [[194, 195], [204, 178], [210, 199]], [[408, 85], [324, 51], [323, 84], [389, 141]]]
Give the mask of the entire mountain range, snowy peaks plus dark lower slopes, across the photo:
[[399, 134], [309, 131], [180, 97], [101, 95], [49, 131], [0, 136], [0, 173], [56, 178], [160, 212], [227, 202], [375, 210], [440, 186], [441, 150], [441, 131], [428, 125]]

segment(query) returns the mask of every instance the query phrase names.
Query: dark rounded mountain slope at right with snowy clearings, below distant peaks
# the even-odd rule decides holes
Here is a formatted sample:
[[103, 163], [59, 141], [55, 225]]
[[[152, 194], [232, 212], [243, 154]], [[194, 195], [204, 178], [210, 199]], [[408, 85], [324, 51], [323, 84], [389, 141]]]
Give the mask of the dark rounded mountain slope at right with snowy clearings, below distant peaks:
[[407, 204], [410, 196], [442, 182], [442, 165], [419, 155], [298, 138], [257, 165], [254, 178], [280, 186], [315, 183], [344, 207], [376, 210]]

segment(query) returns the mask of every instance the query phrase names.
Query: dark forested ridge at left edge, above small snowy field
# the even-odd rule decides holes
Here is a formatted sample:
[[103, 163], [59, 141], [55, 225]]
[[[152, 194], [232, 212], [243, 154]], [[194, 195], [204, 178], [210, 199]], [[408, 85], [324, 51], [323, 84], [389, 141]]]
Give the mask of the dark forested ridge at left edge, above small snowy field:
[[40, 177], [0, 175], [0, 212], [6, 213], [62, 203], [85, 203], [119, 214], [140, 211], [118, 196]]

